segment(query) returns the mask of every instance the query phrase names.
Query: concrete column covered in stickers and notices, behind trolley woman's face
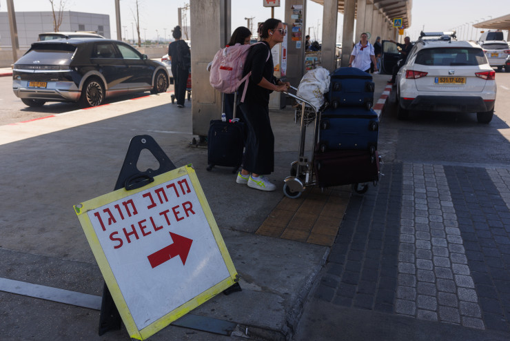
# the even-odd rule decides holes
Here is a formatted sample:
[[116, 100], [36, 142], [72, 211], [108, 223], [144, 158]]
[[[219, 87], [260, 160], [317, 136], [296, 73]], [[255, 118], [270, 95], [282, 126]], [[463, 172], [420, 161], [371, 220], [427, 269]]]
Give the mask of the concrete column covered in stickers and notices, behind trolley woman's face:
[[[292, 84], [292, 86], [298, 86], [301, 78], [305, 75], [305, 28], [307, 27], [306, 23], [306, 10], [307, 10], [307, 1], [306, 0], [287, 0], [285, 1], [285, 20], [284, 18], [276, 18], [281, 19], [284, 23], [287, 23], [287, 81]], [[296, 19], [292, 19], [292, 15], [294, 14], [294, 10], [292, 10], [292, 6], [302, 6], [302, 18], [303, 23], [300, 26], [301, 29], [301, 39], [300, 41], [292, 40], [292, 23], [296, 21]], [[299, 26], [296, 26], [298, 28]]]

